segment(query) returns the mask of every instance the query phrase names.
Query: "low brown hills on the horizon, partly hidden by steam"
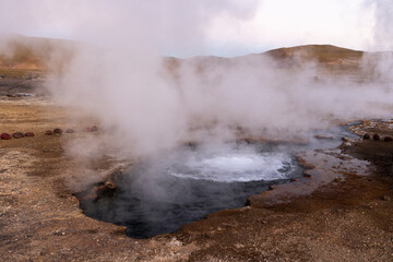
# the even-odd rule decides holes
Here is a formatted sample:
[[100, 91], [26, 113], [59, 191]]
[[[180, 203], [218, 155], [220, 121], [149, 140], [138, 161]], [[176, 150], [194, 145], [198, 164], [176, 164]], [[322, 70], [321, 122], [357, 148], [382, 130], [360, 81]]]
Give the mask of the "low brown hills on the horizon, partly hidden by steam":
[[[48, 70], [61, 70], [63, 64], [70, 61], [75, 47], [76, 44], [69, 40], [16, 35], [7, 43], [0, 43], [0, 76], [1, 72], [4, 71], [45, 72]], [[56, 60], [52, 59], [55, 53], [57, 56]], [[219, 67], [237, 63], [238, 61], [271, 58], [282, 64], [283, 68], [296, 68], [307, 62], [313, 62], [320, 67], [323, 74], [360, 74], [361, 59], [365, 53], [364, 51], [332, 45], [305, 45], [236, 58], [211, 56], [189, 59], [165, 58], [165, 66], [169, 70], [176, 70], [183, 61], [194, 61], [196, 68], [203, 70], [206, 66]]]

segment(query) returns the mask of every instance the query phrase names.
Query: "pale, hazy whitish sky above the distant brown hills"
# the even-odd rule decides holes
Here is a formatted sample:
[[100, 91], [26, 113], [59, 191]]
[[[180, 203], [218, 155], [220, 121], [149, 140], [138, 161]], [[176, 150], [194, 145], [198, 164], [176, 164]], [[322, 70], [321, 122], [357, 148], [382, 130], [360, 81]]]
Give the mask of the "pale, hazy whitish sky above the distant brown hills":
[[176, 57], [234, 57], [306, 44], [380, 50], [386, 47], [374, 45], [373, 29], [381, 2], [390, 5], [386, 0], [0, 0], [0, 33], [99, 38], [105, 46], [112, 43], [96, 36], [118, 39], [136, 32], [138, 38], [157, 35], [145, 43], [159, 43], [160, 53]]

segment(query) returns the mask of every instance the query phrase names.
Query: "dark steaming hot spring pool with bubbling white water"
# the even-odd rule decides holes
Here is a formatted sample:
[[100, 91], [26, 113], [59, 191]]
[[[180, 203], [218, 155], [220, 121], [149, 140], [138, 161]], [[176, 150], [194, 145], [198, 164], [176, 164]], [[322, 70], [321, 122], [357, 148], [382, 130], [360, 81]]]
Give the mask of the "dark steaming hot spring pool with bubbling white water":
[[242, 206], [248, 195], [301, 175], [296, 158], [278, 144], [184, 145], [151, 155], [118, 176], [112, 196], [81, 198], [81, 205], [88, 216], [144, 238]]

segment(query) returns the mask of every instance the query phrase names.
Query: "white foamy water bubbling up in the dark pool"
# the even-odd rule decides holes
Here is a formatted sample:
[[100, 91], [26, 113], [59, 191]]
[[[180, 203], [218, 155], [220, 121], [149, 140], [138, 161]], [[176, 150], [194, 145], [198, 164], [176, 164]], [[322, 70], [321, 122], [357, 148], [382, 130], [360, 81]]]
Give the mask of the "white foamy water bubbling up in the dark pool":
[[277, 152], [221, 152], [186, 155], [168, 168], [171, 176], [217, 182], [272, 181], [289, 178], [293, 159]]

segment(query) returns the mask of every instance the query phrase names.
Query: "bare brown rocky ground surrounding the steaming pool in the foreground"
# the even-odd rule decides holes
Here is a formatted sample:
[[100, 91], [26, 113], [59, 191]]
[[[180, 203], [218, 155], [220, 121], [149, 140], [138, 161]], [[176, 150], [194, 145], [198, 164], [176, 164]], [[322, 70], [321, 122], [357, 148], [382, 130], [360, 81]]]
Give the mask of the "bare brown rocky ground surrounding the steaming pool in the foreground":
[[[72, 111], [26, 83], [17, 92], [0, 91], [0, 132], [35, 132], [0, 140], [1, 261], [393, 260], [393, 142], [358, 139], [337, 150], [305, 152], [299, 158], [312, 168], [303, 178], [250, 196], [250, 205], [211, 214], [175, 234], [132, 239], [122, 227], [83, 215], [70, 187], [86, 170], [64, 146], [99, 140], [104, 131], [83, 132], [94, 124], [91, 118], [70, 120]], [[44, 134], [58, 127], [75, 133]], [[393, 135], [390, 123], [374, 121], [354, 131]]]

